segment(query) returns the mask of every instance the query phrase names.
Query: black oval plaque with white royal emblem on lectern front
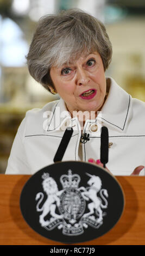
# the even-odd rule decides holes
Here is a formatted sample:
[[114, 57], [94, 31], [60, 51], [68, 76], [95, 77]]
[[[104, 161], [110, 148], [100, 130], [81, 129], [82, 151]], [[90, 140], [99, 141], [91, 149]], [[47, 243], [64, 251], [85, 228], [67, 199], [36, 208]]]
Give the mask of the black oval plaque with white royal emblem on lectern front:
[[57, 162], [24, 185], [24, 220], [42, 236], [77, 243], [104, 235], [119, 221], [124, 194], [104, 168], [86, 162]]

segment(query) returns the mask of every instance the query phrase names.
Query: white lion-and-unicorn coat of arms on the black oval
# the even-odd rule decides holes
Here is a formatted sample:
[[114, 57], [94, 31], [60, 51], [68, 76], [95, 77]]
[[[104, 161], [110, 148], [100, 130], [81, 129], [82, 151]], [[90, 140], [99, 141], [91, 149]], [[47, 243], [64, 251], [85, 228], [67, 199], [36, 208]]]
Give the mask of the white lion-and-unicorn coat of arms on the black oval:
[[68, 175], [60, 176], [62, 190], [59, 191], [49, 173], [43, 173], [42, 187], [47, 199], [43, 203], [42, 192], [35, 198], [39, 200], [36, 210], [41, 212], [39, 222], [43, 228], [52, 230], [57, 227], [62, 229], [62, 234], [74, 236], [83, 234], [88, 225], [98, 229], [103, 224], [106, 215], [103, 209], [108, 208], [108, 191], [102, 188], [99, 176], [86, 175], [89, 176], [87, 187], [79, 187], [80, 176], [68, 170]]

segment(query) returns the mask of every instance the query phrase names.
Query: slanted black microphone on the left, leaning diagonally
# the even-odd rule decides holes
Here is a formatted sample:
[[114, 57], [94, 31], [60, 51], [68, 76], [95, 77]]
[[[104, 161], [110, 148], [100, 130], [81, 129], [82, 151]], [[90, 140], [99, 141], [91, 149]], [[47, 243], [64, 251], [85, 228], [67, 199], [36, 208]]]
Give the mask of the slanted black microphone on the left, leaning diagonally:
[[62, 157], [65, 154], [67, 145], [70, 142], [70, 139], [72, 137], [72, 133], [73, 133], [72, 127], [68, 127], [65, 130], [64, 136], [62, 137], [58, 150], [56, 151], [56, 154], [54, 156], [54, 159], [53, 159], [54, 163], [62, 160]]

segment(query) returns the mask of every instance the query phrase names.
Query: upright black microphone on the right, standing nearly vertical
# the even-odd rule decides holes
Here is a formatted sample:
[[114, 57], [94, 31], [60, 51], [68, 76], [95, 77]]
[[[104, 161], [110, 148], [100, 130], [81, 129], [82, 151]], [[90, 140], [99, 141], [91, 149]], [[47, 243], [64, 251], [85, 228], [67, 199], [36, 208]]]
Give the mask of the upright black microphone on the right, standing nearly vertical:
[[100, 162], [103, 163], [103, 167], [105, 168], [105, 164], [108, 163], [108, 151], [109, 151], [109, 136], [108, 136], [108, 128], [103, 126], [100, 136]]

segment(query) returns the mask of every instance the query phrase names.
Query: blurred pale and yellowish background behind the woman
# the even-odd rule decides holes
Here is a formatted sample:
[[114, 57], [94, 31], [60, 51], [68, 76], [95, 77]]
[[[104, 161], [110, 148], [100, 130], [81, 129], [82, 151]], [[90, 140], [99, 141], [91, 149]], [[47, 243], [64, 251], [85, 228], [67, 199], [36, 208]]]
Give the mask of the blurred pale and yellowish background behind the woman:
[[144, 0], [0, 0], [0, 173], [25, 113], [59, 99], [30, 77], [25, 56], [45, 14], [80, 8], [106, 26], [113, 57], [106, 76], [145, 101]]

